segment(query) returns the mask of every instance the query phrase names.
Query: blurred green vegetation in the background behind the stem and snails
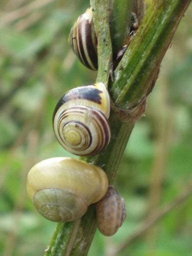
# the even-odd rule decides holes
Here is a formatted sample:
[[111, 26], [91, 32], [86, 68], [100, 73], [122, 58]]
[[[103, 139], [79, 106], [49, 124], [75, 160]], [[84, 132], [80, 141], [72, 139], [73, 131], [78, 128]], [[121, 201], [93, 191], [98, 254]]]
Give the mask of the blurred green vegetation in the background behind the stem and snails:
[[[147, 1], [150, 4], [150, 1]], [[72, 156], [56, 141], [52, 113], [64, 92], [93, 83], [68, 44], [88, 0], [0, 2], [0, 255], [40, 256], [55, 223], [26, 195], [27, 172], [40, 160]], [[89, 255], [110, 255], [154, 211], [192, 181], [192, 6], [162, 62], [145, 117], [136, 123], [115, 185], [127, 219], [106, 238], [96, 232]], [[190, 256], [192, 198], [169, 212], [120, 255]]]

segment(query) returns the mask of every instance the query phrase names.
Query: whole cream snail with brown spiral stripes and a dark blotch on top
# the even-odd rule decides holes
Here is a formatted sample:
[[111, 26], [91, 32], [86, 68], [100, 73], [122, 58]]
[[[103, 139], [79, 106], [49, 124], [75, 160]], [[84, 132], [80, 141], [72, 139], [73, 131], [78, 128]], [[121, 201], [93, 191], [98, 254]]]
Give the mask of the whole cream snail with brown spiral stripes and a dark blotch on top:
[[56, 138], [67, 151], [94, 156], [110, 140], [110, 98], [103, 83], [85, 85], [65, 93], [53, 113]]

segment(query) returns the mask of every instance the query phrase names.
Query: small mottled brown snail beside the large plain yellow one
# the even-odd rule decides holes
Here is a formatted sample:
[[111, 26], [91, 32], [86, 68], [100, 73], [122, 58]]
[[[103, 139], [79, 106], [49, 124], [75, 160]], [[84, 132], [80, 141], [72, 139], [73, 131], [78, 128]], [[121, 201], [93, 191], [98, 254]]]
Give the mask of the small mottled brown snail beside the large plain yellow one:
[[96, 219], [99, 231], [106, 235], [114, 235], [126, 218], [124, 199], [112, 185], [104, 197], [96, 203]]

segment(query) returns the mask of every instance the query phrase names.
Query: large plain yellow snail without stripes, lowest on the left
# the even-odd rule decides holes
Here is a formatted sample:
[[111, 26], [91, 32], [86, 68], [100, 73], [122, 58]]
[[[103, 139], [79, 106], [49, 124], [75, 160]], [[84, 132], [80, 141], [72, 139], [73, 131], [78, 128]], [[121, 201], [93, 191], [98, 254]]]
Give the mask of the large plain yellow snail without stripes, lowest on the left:
[[101, 168], [72, 158], [43, 160], [27, 176], [27, 193], [37, 211], [56, 222], [79, 219], [107, 189]]

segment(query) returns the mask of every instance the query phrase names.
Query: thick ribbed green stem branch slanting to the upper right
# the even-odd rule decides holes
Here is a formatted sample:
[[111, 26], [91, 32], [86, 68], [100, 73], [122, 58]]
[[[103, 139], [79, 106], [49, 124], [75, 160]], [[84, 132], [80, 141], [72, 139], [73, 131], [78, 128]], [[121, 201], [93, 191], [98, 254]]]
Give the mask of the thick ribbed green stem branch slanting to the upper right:
[[115, 70], [111, 97], [121, 109], [146, 95], [190, 0], [154, 0]]

